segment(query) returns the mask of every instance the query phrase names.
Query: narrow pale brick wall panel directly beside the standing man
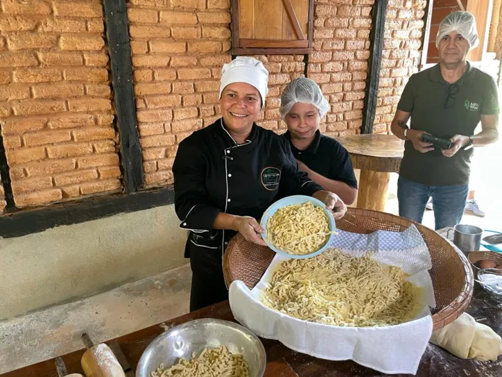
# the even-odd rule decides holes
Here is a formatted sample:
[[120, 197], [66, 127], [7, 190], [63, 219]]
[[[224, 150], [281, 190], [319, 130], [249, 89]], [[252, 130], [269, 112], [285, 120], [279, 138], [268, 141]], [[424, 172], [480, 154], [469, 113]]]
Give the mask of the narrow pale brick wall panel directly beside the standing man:
[[408, 78], [418, 71], [425, 0], [389, 0], [374, 133], [389, 133]]

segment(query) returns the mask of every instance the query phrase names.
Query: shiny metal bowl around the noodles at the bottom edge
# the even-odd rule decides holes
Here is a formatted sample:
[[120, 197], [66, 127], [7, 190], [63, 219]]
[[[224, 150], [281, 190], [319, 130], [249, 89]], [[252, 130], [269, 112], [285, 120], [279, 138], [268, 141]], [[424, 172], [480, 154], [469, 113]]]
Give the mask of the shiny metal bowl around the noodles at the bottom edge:
[[136, 377], [150, 377], [151, 372], [163, 363], [171, 367], [179, 358], [192, 358], [206, 347], [227, 347], [232, 353], [240, 353], [248, 362], [250, 377], [265, 374], [266, 353], [260, 340], [247, 328], [220, 319], [196, 319], [175, 326], [151, 342], [139, 359]]

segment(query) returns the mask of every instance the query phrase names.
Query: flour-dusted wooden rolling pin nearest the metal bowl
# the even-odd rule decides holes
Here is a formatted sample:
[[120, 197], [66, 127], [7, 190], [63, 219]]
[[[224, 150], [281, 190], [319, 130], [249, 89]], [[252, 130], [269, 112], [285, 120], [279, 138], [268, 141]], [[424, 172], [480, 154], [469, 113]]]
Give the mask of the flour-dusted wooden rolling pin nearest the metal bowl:
[[82, 355], [80, 364], [87, 377], [126, 377], [119, 361], [109, 346], [104, 343], [94, 344], [86, 333], [82, 334], [82, 340], [87, 351]]

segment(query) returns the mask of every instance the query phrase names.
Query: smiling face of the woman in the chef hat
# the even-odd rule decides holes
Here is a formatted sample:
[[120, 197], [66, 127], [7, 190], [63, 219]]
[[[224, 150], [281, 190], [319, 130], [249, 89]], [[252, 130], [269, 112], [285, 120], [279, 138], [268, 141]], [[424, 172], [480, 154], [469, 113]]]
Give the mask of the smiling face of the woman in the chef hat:
[[223, 122], [230, 131], [245, 133], [260, 115], [261, 97], [252, 85], [232, 83], [221, 93], [220, 109]]

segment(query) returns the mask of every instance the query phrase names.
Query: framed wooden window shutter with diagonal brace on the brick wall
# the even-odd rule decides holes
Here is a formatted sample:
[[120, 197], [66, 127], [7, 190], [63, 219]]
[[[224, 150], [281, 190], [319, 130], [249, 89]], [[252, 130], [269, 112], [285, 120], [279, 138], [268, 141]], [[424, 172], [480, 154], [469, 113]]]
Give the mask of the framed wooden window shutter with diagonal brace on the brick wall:
[[312, 52], [313, 0], [232, 0], [234, 55]]

